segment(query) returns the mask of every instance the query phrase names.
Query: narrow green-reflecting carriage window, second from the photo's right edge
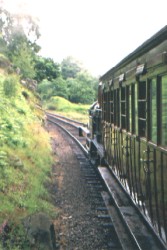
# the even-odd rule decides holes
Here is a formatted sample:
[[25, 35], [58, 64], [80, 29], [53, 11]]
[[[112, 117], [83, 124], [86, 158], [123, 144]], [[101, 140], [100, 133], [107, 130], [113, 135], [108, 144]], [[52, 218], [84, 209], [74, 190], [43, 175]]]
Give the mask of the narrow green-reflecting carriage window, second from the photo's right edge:
[[150, 82], [150, 136], [151, 140], [157, 143], [157, 82], [152, 79]]

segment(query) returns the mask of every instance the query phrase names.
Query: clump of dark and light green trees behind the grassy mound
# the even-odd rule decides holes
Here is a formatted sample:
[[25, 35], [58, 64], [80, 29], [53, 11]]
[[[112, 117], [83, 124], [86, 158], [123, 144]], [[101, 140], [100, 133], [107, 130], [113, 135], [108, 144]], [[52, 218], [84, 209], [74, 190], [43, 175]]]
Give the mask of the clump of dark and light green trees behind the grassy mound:
[[63, 60], [65, 74], [61, 76], [59, 65], [52, 59], [36, 58], [36, 80], [39, 81], [38, 92], [42, 99], [61, 96], [71, 102], [85, 104], [96, 100], [98, 80], [71, 60], [71, 57]]

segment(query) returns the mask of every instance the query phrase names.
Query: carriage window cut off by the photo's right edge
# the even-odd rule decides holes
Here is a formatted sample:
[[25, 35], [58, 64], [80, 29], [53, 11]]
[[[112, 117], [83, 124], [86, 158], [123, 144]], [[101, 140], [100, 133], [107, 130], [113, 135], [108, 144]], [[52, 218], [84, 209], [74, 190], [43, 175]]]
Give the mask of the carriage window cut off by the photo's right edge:
[[162, 105], [162, 129], [161, 138], [162, 145], [167, 146], [167, 76], [162, 77], [162, 87], [161, 87], [161, 105]]

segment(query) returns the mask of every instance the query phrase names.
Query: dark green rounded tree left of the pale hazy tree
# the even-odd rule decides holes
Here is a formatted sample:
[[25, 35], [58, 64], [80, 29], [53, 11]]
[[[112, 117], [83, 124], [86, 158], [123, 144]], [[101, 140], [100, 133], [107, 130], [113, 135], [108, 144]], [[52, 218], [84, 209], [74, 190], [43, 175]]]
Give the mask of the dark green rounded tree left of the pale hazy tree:
[[35, 59], [35, 79], [40, 82], [44, 79], [52, 81], [60, 76], [59, 64], [55, 63], [51, 58], [37, 56]]

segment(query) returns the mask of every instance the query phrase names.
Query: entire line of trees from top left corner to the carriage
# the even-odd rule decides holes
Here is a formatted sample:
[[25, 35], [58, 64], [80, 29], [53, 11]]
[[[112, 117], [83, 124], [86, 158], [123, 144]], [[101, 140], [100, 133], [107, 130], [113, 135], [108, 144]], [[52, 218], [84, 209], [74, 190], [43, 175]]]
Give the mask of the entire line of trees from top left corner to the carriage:
[[43, 100], [57, 95], [74, 103], [93, 102], [97, 79], [71, 56], [61, 64], [39, 56], [39, 36], [39, 27], [31, 16], [11, 15], [0, 8], [0, 53], [9, 58], [14, 69], [19, 69], [21, 78], [36, 80]]

